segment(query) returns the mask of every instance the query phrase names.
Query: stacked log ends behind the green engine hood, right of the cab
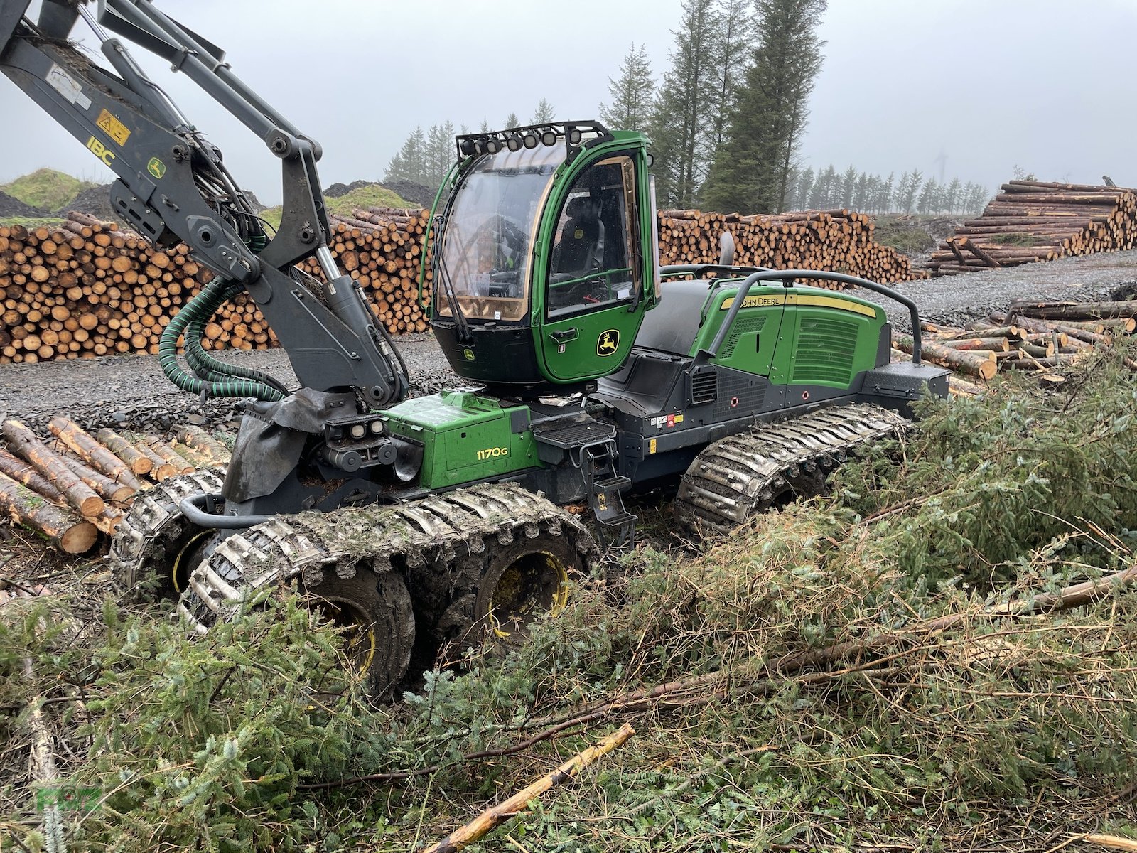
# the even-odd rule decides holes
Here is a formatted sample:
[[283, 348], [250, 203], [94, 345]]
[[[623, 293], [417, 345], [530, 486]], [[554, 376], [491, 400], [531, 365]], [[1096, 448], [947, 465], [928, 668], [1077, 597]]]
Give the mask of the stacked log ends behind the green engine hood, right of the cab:
[[[873, 241], [872, 217], [852, 210], [769, 216], [659, 212], [659, 263], [715, 264], [719, 238], [735, 238], [735, 264], [775, 270], [830, 270], [890, 284], [927, 278], [895, 249]], [[811, 282], [820, 285], [820, 282]], [[839, 287], [839, 285], [836, 285]]]

